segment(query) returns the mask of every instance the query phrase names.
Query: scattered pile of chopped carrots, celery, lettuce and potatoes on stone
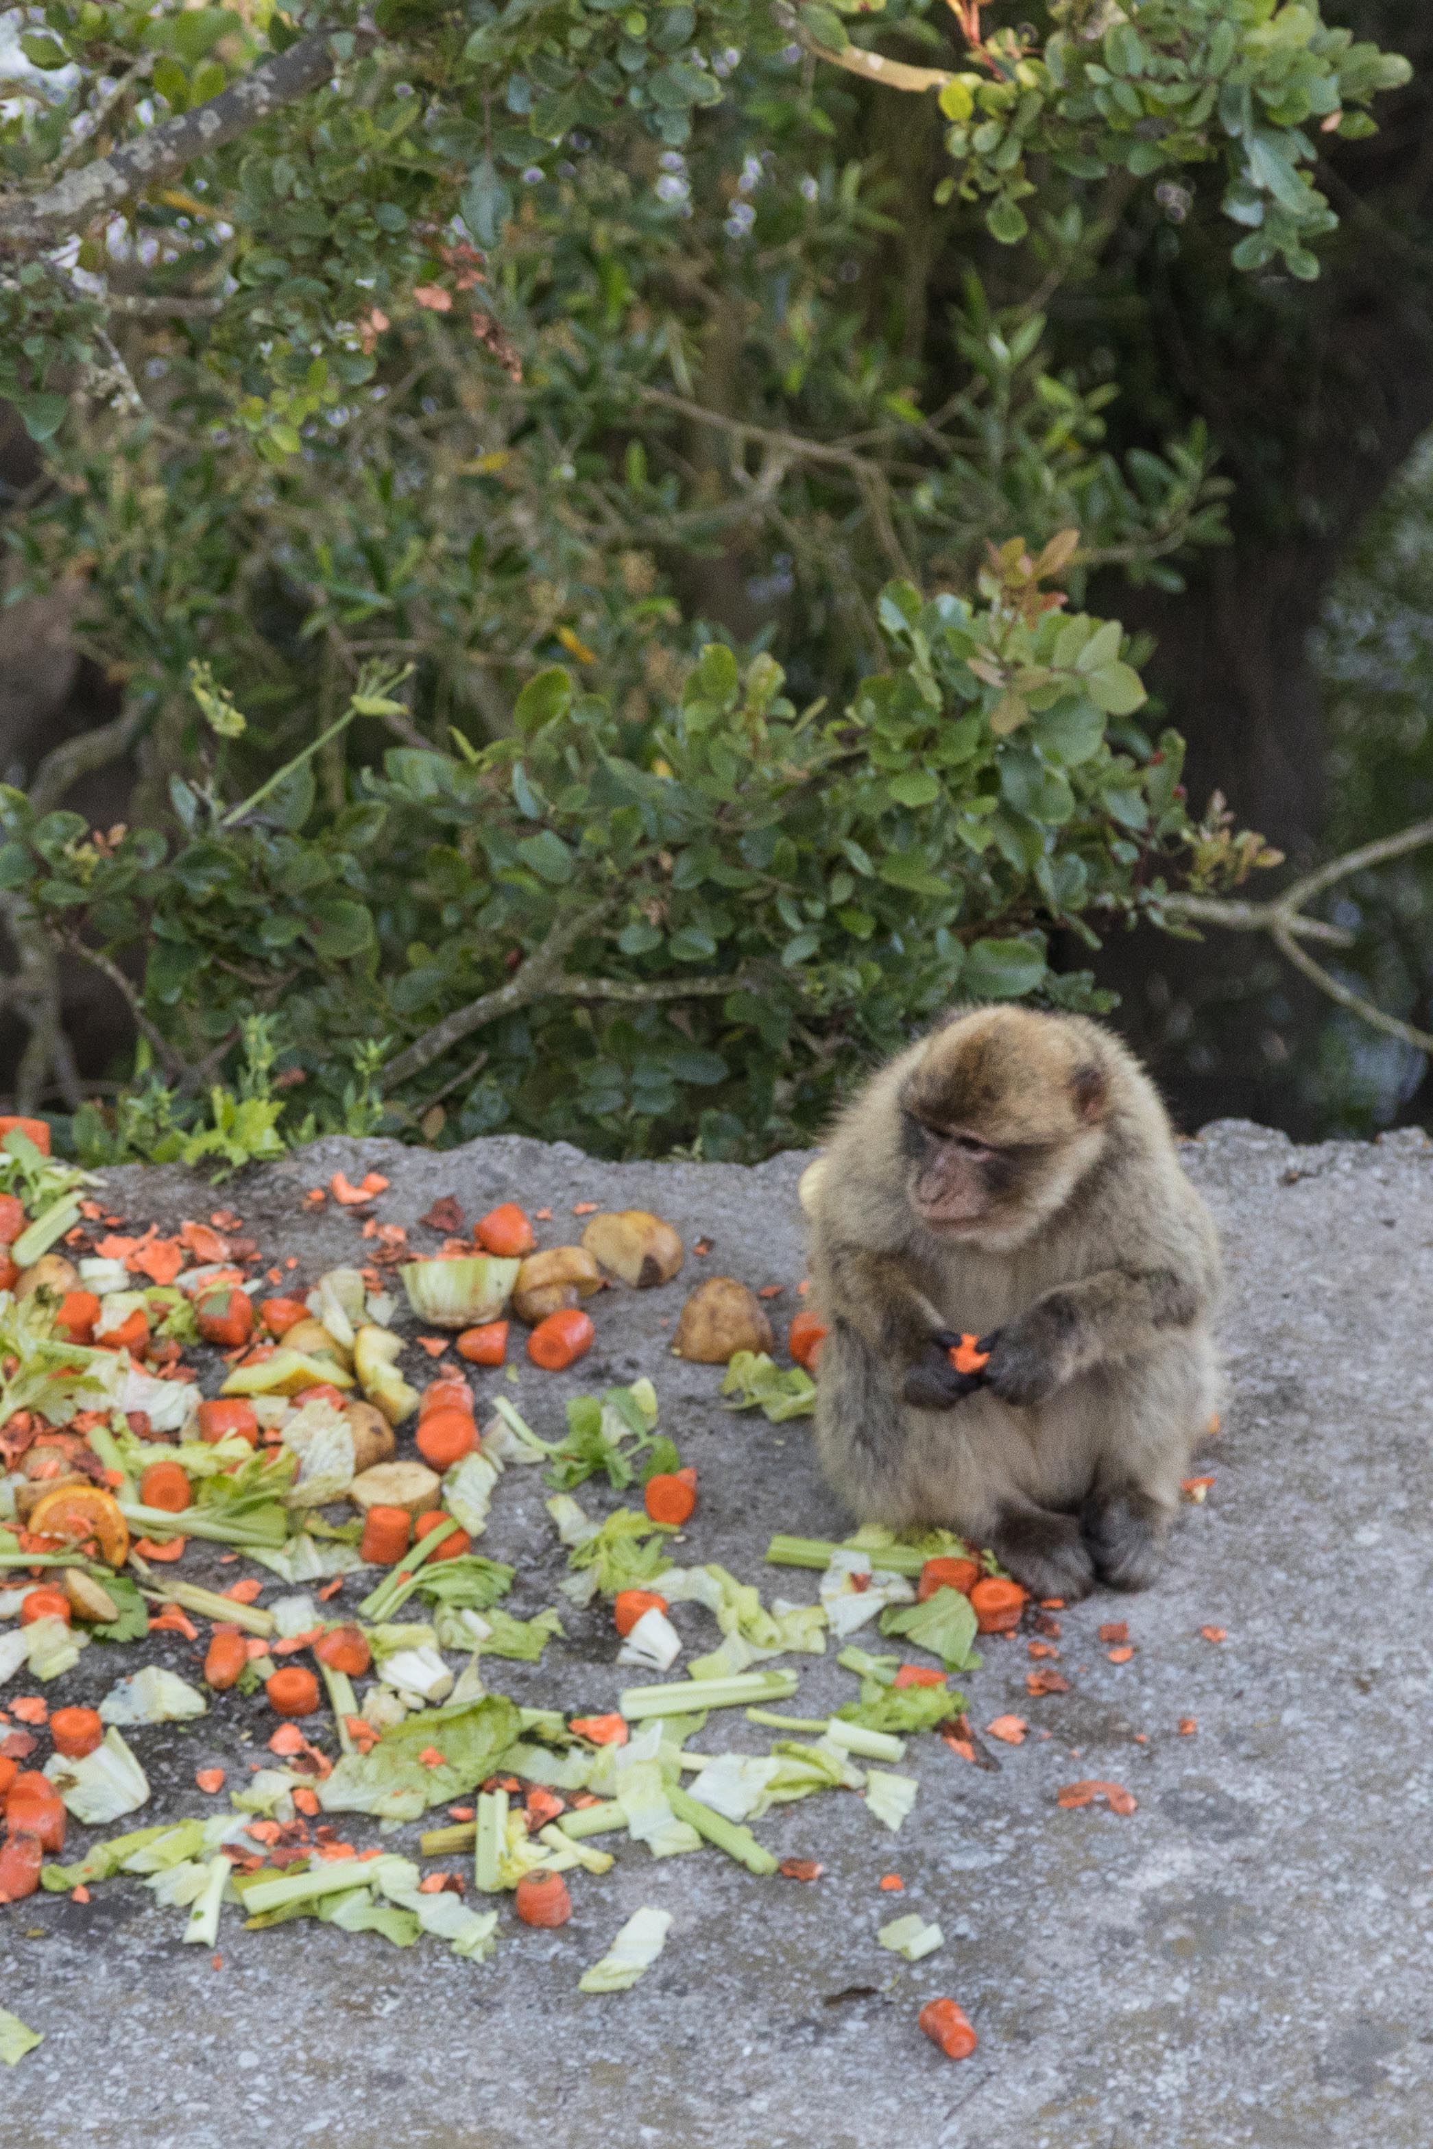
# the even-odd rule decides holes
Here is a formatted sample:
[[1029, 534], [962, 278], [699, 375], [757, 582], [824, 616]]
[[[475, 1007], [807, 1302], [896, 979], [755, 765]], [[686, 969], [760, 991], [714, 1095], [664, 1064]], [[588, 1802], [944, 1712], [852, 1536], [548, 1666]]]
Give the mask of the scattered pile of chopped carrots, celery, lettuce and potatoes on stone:
[[[580, 1203], [580, 1242], [539, 1251], [518, 1203], [468, 1234], [445, 1197], [423, 1218], [447, 1234], [440, 1253], [412, 1257], [402, 1227], [372, 1221], [382, 1176], [335, 1173], [307, 1206], [354, 1212], [372, 1259], [303, 1287], [292, 1257], [260, 1266], [232, 1212], [133, 1229], [97, 1180], [49, 1158], [41, 1122], [0, 1135], [0, 1904], [37, 1889], [88, 1902], [131, 1878], [206, 1949], [236, 1913], [249, 1930], [314, 1917], [397, 1947], [428, 1936], [481, 1962], [505, 1910], [563, 1926], [571, 1887], [614, 1863], [604, 1842], [655, 1859], [711, 1846], [810, 1880], [814, 1861], [780, 1863], [761, 1842], [771, 1807], [846, 1790], [898, 1831], [920, 1794], [909, 1741], [939, 1734], [975, 1758], [950, 1676], [1025, 1607], [988, 1554], [943, 1530], [782, 1534], [769, 1562], [819, 1573], [816, 1599], [765, 1601], [715, 1562], [675, 1558], [698, 1483], [651, 1380], [567, 1401], [561, 1440], [503, 1393], [513, 1322], [533, 1367], [567, 1369], [602, 1292], [677, 1277], [683, 1244], [662, 1218]], [[821, 1337], [797, 1313], [780, 1369], [761, 1296], [711, 1277], [685, 1300], [677, 1352], [726, 1369], [733, 1410], [780, 1423], [812, 1408]], [[432, 1378], [408, 1378], [417, 1358]], [[483, 1412], [468, 1369], [490, 1382]], [[561, 1603], [531, 1618], [505, 1607], [513, 1567], [477, 1549], [511, 1470], [544, 1474], [567, 1552]], [[640, 1504], [589, 1513], [576, 1494], [593, 1479]], [[599, 1605], [629, 1678], [617, 1708], [526, 1708], [503, 1691], [503, 1659], [537, 1663]], [[692, 1607], [685, 1631], [677, 1605]], [[870, 1629], [898, 1646], [866, 1648]], [[82, 1653], [150, 1633], [187, 1644], [185, 1672], [146, 1661], [97, 1708], [64, 1702]], [[709, 1646], [690, 1653], [692, 1633]], [[821, 1717], [776, 1706], [795, 1700], [799, 1659], [827, 1648], [851, 1698]], [[262, 1764], [238, 1782], [200, 1769], [198, 1790], [223, 1805], [157, 1818], [148, 1730], [238, 1719], [230, 1698], [266, 1704]], [[735, 1723], [752, 1728], [741, 1743]], [[1117, 1786], [1081, 1788], [1115, 1803]], [[348, 1816], [378, 1842], [352, 1842]], [[71, 1822], [101, 1831], [77, 1857]], [[640, 1908], [580, 1966], [580, 1990], [636, 1984], [668, 1923]], [[915, 1913], [879, 1932], [909, 1962], [941, 1938]], [[954, 2001], [928, 2001], [920, 2024], [950, 2057], [973, 2050]], [[2, 2059], [34, 2042], [0, 2018]]]

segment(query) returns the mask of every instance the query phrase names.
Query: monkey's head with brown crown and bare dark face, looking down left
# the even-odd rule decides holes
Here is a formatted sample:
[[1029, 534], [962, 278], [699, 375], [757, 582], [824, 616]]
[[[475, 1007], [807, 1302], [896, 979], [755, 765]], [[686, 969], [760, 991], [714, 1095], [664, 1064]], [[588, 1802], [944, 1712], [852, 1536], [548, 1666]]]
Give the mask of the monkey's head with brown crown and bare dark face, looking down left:
[[907, 1197], [930, 1231], [1018, 1246], [1104, 1148], [1106, 1083], [1027, 1010], [939, 1032], [900, 1096]]

